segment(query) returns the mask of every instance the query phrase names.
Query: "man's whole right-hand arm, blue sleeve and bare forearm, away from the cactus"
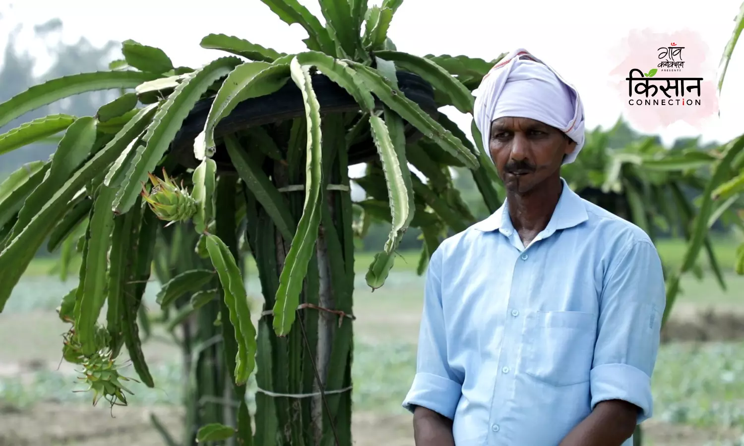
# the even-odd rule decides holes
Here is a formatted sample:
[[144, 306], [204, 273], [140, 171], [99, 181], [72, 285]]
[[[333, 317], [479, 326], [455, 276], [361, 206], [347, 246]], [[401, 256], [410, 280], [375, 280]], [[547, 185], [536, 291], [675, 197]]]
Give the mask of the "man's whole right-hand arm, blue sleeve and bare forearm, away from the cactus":
[[666, 305], [661, 259], [629, 242], [608, 268], [590, 375], [591, 414], [559, 446], [620, 446], [652, 414], [651, 375]]

